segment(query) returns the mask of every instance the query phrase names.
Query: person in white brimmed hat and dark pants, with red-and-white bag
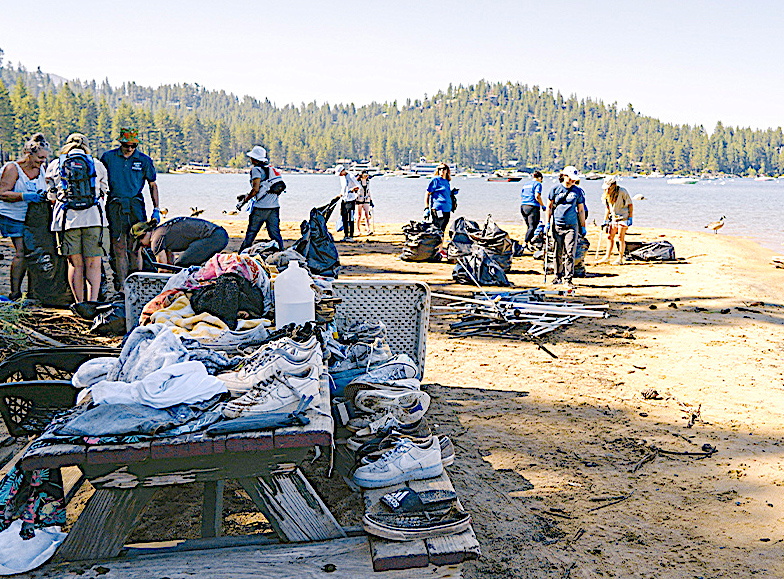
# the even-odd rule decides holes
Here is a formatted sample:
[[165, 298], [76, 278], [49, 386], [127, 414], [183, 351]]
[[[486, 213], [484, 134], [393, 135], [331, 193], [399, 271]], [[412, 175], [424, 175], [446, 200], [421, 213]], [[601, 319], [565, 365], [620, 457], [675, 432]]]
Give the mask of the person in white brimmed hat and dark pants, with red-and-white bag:
[[246, 153], [250, 158], [250, 192], [237, 197], [237, 211], [251, 199], [248, 231], [242, 241], [240, 251], [249, 248], [256, 241], [262, 225], [267, 226], [267, 235], [283, 251], [283, 237], [280, 235], [280, 201], [278, 197], [286, 189], [280, 171], [269, 166], [267, 149], [256, 145]]

